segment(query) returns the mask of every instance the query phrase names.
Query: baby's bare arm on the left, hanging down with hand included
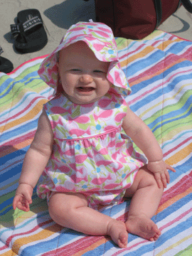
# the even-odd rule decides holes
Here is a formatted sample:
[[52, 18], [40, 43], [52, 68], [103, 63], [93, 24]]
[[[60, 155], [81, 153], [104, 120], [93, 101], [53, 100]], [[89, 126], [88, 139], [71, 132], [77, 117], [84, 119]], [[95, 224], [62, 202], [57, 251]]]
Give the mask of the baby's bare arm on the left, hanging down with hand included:
[[29, 204], [32, 203], [33, 188], [48, 163], [52, 147], [53, 132], [46, 112], [43, 110], [38, 119], [36, 135], [23, 161], [21, 176], [18, 181], [19, 186], [13, 202], [14, 210], [16, 207], [20, 210], [29, 210]]

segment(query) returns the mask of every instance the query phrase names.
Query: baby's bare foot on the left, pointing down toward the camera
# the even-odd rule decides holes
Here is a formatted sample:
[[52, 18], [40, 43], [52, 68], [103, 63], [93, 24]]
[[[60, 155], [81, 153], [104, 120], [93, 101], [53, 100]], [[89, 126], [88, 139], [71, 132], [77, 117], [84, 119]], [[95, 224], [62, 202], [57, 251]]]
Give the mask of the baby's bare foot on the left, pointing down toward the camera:
[[110, 235], [113, 242], [119, 247], [127, 247], [128, 233], [126, 225], [121, 220], [112, 219], [107, 226], [107, 235]]

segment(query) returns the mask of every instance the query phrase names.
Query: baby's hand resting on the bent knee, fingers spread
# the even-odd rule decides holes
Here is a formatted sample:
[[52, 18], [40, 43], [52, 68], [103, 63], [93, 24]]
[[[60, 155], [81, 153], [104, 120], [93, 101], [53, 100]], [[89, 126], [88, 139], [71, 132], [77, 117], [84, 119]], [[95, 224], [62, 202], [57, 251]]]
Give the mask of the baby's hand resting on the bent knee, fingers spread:
[[166, 183], [169, 183], [170, 177], [167, 169], [176, 172], [176, 170], [171, 167], [169, 164], [166, 164], [164, 160], [160, 161], [149, 161], [147, 168], [154, 174], [156, 183], [161, 188], [162, 184], [166, 188]]

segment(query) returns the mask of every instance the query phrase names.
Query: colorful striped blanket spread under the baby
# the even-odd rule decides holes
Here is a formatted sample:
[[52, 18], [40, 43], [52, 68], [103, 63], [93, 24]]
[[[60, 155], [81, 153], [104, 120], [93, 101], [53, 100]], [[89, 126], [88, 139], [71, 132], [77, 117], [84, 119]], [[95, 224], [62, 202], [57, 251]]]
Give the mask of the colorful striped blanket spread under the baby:
[[[142, 41], [117, 38], [117, 45], [132, 87], [127, 102], [154, 132], [166, 163], [176, 169], [153, 217], [161, 237], [149, 242], [129, 234], [127, 248], [119, 249], [107, 236], [83, 235], [55, 224], [36, 191], [28, 213], [13, 210], [23, 158], [53, 92], [37, 74], [42, 56], [9, 75], [0, 73], [1, 256], [192, 255], [192, 42], [155, 31]], [[126, 220], [129, 203], [103, 213]]]

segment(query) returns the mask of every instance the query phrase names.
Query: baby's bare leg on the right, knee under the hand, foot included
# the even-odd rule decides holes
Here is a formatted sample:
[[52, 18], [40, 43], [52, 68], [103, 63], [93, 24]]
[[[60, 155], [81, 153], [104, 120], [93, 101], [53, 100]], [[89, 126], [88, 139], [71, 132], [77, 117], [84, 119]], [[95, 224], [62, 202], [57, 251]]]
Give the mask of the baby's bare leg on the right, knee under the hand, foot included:
[[154, 175], [144, 166], [139, 170], [134, 183], [125, 196], [132, 197], [129, 208], [127, 231], [150, 241], [157, 240], [161, 231], [151, 220], [161, 201], [164, 189], [159, 188]]

